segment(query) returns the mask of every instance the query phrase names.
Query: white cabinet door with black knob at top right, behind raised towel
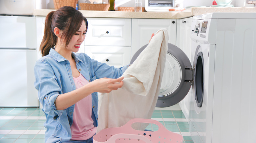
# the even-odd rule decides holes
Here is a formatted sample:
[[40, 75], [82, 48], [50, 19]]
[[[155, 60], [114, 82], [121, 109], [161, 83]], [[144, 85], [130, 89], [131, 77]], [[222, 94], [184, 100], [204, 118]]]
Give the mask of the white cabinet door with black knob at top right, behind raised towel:
[[168, 30], [168, 42], [176, 45], [176, 19], [132, 19], [132, 51], [133, 56], [140, 47], [148, 44], [152, 33], [161, 28]]

